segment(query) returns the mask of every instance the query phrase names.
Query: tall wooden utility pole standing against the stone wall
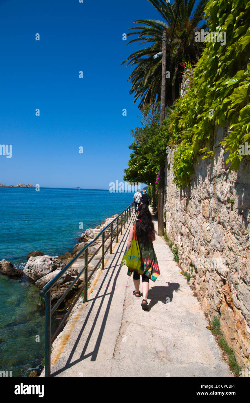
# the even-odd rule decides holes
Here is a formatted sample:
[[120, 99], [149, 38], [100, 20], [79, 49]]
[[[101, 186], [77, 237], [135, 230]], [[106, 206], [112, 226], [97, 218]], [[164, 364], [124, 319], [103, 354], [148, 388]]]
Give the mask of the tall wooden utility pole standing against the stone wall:
[[[166, 63], [167, 63], [167, 31], [163, 29], [162, 34], [162, 70], [161, 70], [161, 116], [160, 125], [165, 119], [166, 108]], [[158, 192], [158, 235], [163, 237], [163, 205], [164, 205], [164, 186], [165, 186], [165, 165], [160, 166], [159, 170], [159, 192]]]

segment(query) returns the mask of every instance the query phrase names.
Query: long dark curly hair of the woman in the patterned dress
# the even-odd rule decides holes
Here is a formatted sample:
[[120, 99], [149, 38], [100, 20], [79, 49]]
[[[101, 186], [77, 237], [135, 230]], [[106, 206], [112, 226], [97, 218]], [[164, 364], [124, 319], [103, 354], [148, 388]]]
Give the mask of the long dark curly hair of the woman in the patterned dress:
[[155, 237], [155, 227], [147, 204], [138, 206], [137, 218], [140, 221], [136, 221], [136, 237], [140, 243], [145, 245], [151, 242], [149, 232], [151, 237]]

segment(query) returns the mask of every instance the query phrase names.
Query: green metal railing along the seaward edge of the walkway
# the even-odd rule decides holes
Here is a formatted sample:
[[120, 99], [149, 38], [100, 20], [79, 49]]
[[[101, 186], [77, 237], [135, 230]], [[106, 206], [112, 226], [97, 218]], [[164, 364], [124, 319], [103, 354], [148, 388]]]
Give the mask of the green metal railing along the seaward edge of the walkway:
[[[74, 258], [72, 260], [70, 260], [70, 262], [68, 264], [66, 264], [66, 266], [60, 271], [60, 273], [58, 273], [40, 291], [40, 293], [39, 293], [40, 297], [45, 298], [45, 376], [46, 377], [50, 376], [50, 353], [51, 353], [51, 345], [52, 345], [52, 343], [54, 342], [54, 340], [56, 339], [58, 333], [62, 329], [62, 327], [63, 327], [64, 323], [66, 322], [70, 312], [72, 311], [74, 305], [76, 304], [76, 301], [79, 299], [81, 293], [83, 292], [83, 289], [84, 289], [84, 302], [88, 301], [88, 282], [89, 282], [90, 278], [93, 276], [95, 270], [97, 269], [97, 267], [99, 266], [100, 263], [101, 263], [101, 268], [104, 269], [104, 256], [105, 256], [105, 253], [108, 251], [109, 248], [110, 248], [110, 253], [112, 253], [113, 233], [116, 230], [115, 237], [116, 237], [116, 242], [118, 242], [118, 234], [119, 234], [119, 232], [121, 232], [121, 235], [122, 235], [123, 224], [124, 224], [124, 228], [125, 228], [126, 223], [128, 223], [128, 218], [130, 218], [130, 216], [132, 215], [132, 211], [134, 211], [134, 202], [132, 202], [130, 204], [130, 206], [128, 206], [125, 210], [123, 210], [122, 213], [120, 213], [116, 218], [114, 218], [114, 220], [111, 221], [110, 224], [105, 226], [105, 228], [103, 228], [103, 230], [97, 235], [97, 237], [95, 237], [95, 239], [93, 239], [93, 241], [91, 241], [87, 245], [85, 245], [85, 247], [83, 247], [83, 249], [81, 249], [81, 251], [79, 251], [79, 253], [77, 253], [76, 256], [74, 256]], [[123, 215], [123, 213], [124, 213], [124, 215]], [[120, 218], [120, 222], [119, 222], [119, 217], [120, 216], [121, 216], [121, 218]], [[113, 223], [115, 221], [116, 221], [117, 225], [113, 229]], [[120, 225], [120, 231], [119, 231], [119, 225]], [[110, 228], [110, 234], [105, 238], [105, 231], [109, 227], [111, 227]], [[100, 236], [102, 236], [102, 243], [98, 247], [98, 249], [95, 251], [93, 256], [91, 256], [91, 258], [89, 258], [89, 260], [88, 260], [88, 248]], [[110, 238], [110, 245], [105, 249], [105, 242], [109, 238]], [[101, 258], [99, 259], [99, 261], [95, 265], [95, 268], [91, 271], [91, 274], [88, 277], [88, 265], [91, 262], [91, 260], [94, 258], [94, 256], [99, 252], [100, 249], [102, 249]], [[76, 276], [74, 281], [70, 284], [68, 289], [62, 295], [62, 297], [56, 302], [54, 307], [51, 308], [51, 289], [52, 289], [52, 287], [54, 287], [54, 285], [62, 277], [62, 275], [70, 268], [70, 266], [72, 266], [72, 264], [74, 262], [76, 262], [77, 259], [80, 258], [80, 256], [83, 255], [83, 253], [85, 254], [84, 255], [84, 267], [83, 267], [83, 269], [79, 272], [79, 274]], [[58, 326], [58, 328], [57, 328], [56, 332], [54, 333], [53, 337], [51, 338], [51, 316], [52, 316], [52, 314], [54, 314], [54, 312], [56, 311], [56, 309], [58, 308], [60, 303], [62, 303], [63, 299], [66, 297], [66, 295], [68, 294], [70, 289], [73, 287], [73, 285], [76, 283], [76, 281], [79, 279], [79, 277], [81, 276], [81, 274], [83, 272], [84, 272], [84, 284], [81, 287], [79, 293], [76, 295], [74, 301], [72, 302], [72, 305], [68, 309], [68, 312], [64, 316], [62, 322]]]

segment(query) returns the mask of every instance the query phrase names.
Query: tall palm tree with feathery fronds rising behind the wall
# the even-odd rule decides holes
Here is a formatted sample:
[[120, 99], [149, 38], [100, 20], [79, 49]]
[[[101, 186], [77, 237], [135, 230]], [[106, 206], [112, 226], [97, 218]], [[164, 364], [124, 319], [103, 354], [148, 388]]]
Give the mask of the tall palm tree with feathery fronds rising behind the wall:
[[[136, 65], [128, 81], [131, 79], [130, 94], [134, 93], [134, 103], [140, 97], [138, 106], [140, 110], [146, 104], [160, 100], [161, 97], [161, 58], [154, 59], [153, 56], [161, 52], [163, 29], [167, 31], [167, 55], [170, 54], [169, 64], [167, 64], [167, 71], [170, 72], [166, 85], [167, 105], [170, 106], [176, 99], [176, 95], [177, 97], [180, 95], [183, 69], [180, 63], [190, 62], [194, 65], [205, 47], [204, 42], [194, 42], [194, 33], [208, 28], [207, 21], [198, 27], [198, 23], [204, 19], [207, 1], [200, 0], [192, 12], [195, 0], [174, 0], [171, 5], [165, 0], [149, 0], [164, 21], [136, 20], [134, 23], [143, 25], [129, 28], [136, 31], [128, 33], [127, 36], [136, 35], [137, 37], [128, 44], [135, 41], [141, 41], [140, 44], [151, 43], [151, 46], [137, 50], [122, 62], [122, 64], [128, 62], [127, 66], [130, 65], [130, 67]], [[173, 29], [174, 35], [171, 42]]]

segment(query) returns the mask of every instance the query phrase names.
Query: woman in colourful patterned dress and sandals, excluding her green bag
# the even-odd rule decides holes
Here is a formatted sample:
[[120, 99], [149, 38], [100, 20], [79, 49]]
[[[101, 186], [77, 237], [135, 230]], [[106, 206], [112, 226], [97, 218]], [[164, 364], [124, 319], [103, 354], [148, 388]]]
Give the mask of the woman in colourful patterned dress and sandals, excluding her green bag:
[[141, 266], [139, 270], [128, 268], [128, 276], [133, 272], [135, 290], [133, 294], [140, 297], [140, 274], [142, 276], [143, 301], [141, 306], [143, 310], [148, 310], [147, 297], [149, 293], [149, 279], [155, 281], [161, 274], [155, 255], [153, 241], [155, 241], [155, 228], [147, 204], [138, 206], [138, 220], [132, 222], [128, 238], [127, 251], [134, 238], [134, 229], [139, 244]]

